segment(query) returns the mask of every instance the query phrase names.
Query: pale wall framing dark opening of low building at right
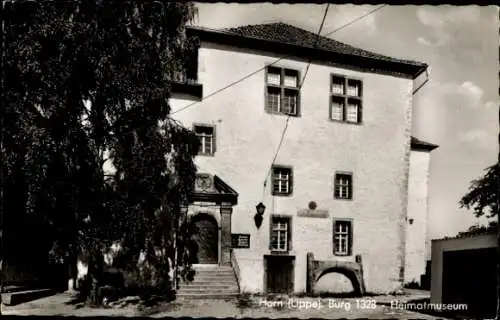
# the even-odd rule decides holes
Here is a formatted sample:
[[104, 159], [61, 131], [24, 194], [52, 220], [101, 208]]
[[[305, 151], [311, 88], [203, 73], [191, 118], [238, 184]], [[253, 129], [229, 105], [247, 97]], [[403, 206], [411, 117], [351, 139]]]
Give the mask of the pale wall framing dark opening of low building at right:
[[496, 234], [458, 239], [432, 240], [431, 303], [442, 303], [443, 253], [445, 251], [496, 248], [497, 245]]

